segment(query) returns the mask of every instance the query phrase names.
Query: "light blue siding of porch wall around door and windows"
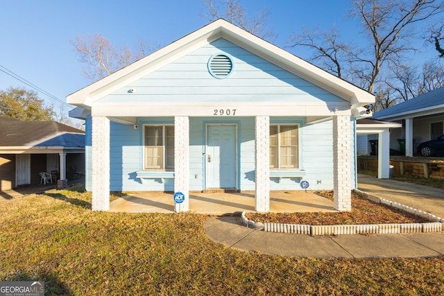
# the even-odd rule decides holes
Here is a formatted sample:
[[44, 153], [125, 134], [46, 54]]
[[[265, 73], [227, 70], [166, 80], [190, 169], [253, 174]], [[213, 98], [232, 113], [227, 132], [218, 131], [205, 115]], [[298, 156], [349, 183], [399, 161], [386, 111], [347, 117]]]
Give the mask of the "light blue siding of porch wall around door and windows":
[[[272, 123], [302, 122], [302, 118], [273, 118]], [[139, 119], [137, 130], [133, 125], [111, 122], [110, 146], [110, 190], [111, 191], [173, 191], [173, 179], [136, 178], [136, 172], [142, 170], [142, 145], [144, 123], [173, 123], [173, 119]], [[243, 191], [255, 190], [255, 122], [253, 117], [190, 118], [189, 140], [189, 184], [191, 191], [204, 189], [205, 178], [205, 123], [237, 123], [239, 127], [239, 184]], [[352, 126], [354, 123], [352, 124]], [[351, 131], [352, 132], [352, 131]], [[271, 190], [302, 190], [300, 181], [307, 180], [309, 189], [329, 190], [333, 186], [332, 160], [332, 121], [313, 125], [303, 122], [299, 130], [300, 170], [305, 170], [302, 178], [291, 177], [278, 180], [273, 178]], [[354, 142], [354, 137], [352, 137]], [[353, 143], [352, 143], [353, 146]], [[353, 148], [352, 148], [353, 149]], [[352, 188], [355, 176], [355, 157], [352, 153]]]

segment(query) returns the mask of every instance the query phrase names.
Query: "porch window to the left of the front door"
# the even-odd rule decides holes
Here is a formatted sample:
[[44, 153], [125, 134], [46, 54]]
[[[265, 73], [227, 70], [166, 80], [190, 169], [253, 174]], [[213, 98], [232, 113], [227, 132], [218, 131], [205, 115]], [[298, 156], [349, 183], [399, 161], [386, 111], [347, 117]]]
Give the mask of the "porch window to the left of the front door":
[[145, 125], [144, 169], [174, 168], [174, 126]]

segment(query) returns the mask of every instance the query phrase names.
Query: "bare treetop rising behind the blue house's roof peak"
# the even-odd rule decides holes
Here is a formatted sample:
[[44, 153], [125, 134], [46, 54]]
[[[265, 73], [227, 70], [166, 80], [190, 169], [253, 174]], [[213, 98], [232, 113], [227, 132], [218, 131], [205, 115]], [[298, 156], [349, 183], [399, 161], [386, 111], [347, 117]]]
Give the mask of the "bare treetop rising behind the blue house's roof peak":
[[274, 40], [276, 37], [273, 28], [266, 27], [269, 10], [259, 11], [256, 17], [250, 17], [239, 0], [202, 0], [202, 3], [207, 12], [202, 12], [200, 15], [210, 21], [225, 19], [263, 39]]

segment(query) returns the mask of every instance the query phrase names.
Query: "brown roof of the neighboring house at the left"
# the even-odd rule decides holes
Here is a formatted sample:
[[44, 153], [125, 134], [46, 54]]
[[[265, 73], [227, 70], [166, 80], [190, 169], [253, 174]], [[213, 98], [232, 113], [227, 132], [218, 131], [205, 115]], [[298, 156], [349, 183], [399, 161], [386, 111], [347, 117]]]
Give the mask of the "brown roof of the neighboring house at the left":
[[0, 116], [0, 147], [85, 148], [85, 132], [55, 121]]

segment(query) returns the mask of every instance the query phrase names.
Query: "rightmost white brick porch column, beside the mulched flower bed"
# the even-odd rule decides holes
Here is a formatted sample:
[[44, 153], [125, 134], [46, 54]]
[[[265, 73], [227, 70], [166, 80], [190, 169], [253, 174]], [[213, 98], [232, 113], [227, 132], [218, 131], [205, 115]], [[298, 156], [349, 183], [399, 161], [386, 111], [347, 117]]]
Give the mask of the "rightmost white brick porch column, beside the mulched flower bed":
[[351, 211], [351, 135], [350, 116], [333, 116], [334, 209]]

